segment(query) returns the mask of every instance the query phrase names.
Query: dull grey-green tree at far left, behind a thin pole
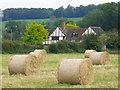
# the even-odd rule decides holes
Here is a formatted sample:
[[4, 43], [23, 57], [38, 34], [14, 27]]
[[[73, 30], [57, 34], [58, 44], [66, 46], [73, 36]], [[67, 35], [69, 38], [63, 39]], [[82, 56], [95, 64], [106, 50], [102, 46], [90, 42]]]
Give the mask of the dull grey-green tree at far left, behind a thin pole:
[[3, 37], [10, 40], [21, 40], [25, 32], [26, 23], [19, 22], [14, 20], [9, 20], [6, 25], [6, 31], [3, 34]]

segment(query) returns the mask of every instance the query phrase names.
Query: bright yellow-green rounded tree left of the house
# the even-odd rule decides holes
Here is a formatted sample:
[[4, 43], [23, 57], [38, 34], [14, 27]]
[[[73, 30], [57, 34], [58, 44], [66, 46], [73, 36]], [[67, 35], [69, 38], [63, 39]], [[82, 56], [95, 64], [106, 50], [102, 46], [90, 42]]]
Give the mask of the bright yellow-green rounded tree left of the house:
[[48, 39], [48, 31], [42, 24], [32, 23], [26, 27], [25, 36], [22, 37], [23, 41], [27, 44], [39, 44]]

